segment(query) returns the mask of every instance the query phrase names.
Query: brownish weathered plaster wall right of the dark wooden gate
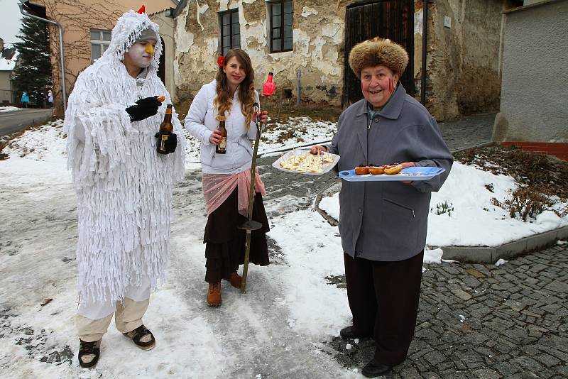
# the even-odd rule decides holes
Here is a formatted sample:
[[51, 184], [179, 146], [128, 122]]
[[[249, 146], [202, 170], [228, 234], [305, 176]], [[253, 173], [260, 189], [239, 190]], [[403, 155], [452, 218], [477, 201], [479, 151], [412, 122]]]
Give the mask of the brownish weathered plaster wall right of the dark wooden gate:
[[[496, 0], [430, 4], [426, 106], [436, 119], [498, 110], [501, 11]], [[450, 28], [444, 27], [444, 16], [451, 19]]]

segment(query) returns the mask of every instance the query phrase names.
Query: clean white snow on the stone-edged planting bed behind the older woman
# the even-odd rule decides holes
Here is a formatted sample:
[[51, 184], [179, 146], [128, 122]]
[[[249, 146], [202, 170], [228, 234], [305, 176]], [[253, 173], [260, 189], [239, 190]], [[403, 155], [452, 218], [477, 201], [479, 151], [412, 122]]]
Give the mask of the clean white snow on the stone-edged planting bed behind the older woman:
[[[524, 222], [511, 219], [507, 210], [492, 204], [493, 197], [502, 203], [510, 199], [517, 187], [513, 177], [455, 162], [442, 189], [432, 193], [427, 246], [500, 246], [568, 225], [568, 216], [559, 217], [550, 210]], [[555, 209], [566, 205], [557, 203]], [[324, 197], [320, 208], [339, 219], [338, 194]]]

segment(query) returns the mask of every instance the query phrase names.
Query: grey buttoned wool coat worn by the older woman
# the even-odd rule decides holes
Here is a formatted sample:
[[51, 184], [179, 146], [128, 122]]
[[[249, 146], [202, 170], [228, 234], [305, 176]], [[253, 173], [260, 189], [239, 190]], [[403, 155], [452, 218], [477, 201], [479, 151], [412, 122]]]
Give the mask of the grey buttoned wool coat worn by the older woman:
[[330, 153], [338, 170], [359, 165], [414, 162], [446, 171], [427, 181], [347, 182], [339, 193], [339, 234], [345, 253], [368, 260], [405, 260], [426, 244], [430, 197], [452, 168], [452, 153], [434, 118], [398, 85], [380, 112], [369, 119], [365, 99], [339, 116]]

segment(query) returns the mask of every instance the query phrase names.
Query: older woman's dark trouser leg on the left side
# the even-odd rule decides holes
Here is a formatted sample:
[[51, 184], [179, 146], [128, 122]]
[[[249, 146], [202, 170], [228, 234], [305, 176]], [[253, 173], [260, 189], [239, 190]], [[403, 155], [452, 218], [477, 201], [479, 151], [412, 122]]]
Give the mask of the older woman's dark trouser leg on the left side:
[[373, 264], [371, 260], [351, 258], [344, 253], [347, 300], [353, 314], [353, 326], [357, 333], [373, 332], [376, 315]]

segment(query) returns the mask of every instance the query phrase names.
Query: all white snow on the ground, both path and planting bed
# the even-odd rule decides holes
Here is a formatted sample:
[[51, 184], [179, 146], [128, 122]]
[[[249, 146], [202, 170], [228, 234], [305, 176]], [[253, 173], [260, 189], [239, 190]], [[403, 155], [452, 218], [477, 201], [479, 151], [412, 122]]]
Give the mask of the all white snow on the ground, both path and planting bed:
[[[305, 128], [309, 137], [283, 138], [279, 126], [282, 130], [266, 132], [263, 150], [332, 136], [330, 123], [296, 120], [297, 130]], [[350, 319], [345, 290], [327, 280], [344, 273], [337, 227], [314, 209], [271, 219], [269, 236], [281, 249], [283, 262], [266, 268], [251, 265], [246, 295], [224, 282], [223, 306], [209, 309], [203, 282], [206, 216], [195, 175], [175, 189], [168, 281], [152, 295], [145, 317], [156, 335], [156, 348], [136, 349], [111, 325], [97, 368], [80, 370], [72, 324], [77, 216], [61, 127], [56, 121], [26, 131], [4, 150], [9, 159], [0, 161], [0, 265], [6, 268], [0, 278], [0, 376], [361, 378], [339, 366], [322, 344]], [[193, 169], [199, 167], [192, 163], [198, 160], [197, 143], [191, 138], [190, 145], [187, 168]], [[493, 192], [485, 187], [489, 184]], [[491, 197], [502, 202], [515, 187], [510, 177], [456, 163], [442, 190], [432, 196], [428, 244], [497, 244], [568, 224], [552, 212], [523, 223], [491, 204]], [[435, 214], [443, 202], [453, 207], [451, 215]], [[267, 202], [266, 207], [283, 204]], [[322, 199], [320, 207], [339, 217], [337, 195]], [[440, 260], [439, 249], [425, 252], [425, 263]], [[53, 301], [40, 306], [47, 297]], [[70, 363], [44, 362], [57, 362], [65, 354], [72, 356]]]

